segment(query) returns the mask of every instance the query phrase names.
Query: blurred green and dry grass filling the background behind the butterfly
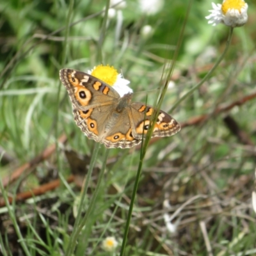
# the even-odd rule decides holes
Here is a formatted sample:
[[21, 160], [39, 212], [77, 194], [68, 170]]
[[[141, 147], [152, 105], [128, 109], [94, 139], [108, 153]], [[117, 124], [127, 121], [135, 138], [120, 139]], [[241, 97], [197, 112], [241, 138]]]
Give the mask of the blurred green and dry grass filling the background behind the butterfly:
[[[255, 99], [214, 114], [255, 93], [255, 3], [248, 1], [248, 23], [234, 29], [220, 65], [200, 84], [221, 58], [229, 28], [207, 24], [208, 1], [165, 2], [148, 16], [129, 1], [122, 20], [104, 18], [104, 1], [0, 3], [1, 184], [33, 159], [15, 182], [1, 185], [0, 204], [60, 180], [52, 191], [0, 208], [0, 255], [255, 255]], [[153, 33], [145, 37], [147, 24]], [[86, 72], [100, 63], [131, 81], [134, 101], [154, 104], [157, 89], [164, 93], [174, 81], [161, 109], [184, 125], [179, 134], [144, 147], [145, 155], [88, 140], [73, 120], [59, 70]], [[61, 134], [65, 144], [57, 142]], [[36, 160], [50, 145], [55, 150]], [[79, 170], [65, 148], [74, 150], [74, 163], [83, 157]], [[71, 174], [75, 182], [68, 183]], [[118, 241], [115, 252], [102, 249], [108, 236]]]

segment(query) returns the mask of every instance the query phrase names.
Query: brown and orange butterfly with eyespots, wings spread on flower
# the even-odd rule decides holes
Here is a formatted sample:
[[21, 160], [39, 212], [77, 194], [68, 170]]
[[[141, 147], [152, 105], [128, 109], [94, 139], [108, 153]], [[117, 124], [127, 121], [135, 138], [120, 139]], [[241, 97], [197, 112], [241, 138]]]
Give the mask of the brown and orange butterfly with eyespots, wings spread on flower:
[[[81, 71], [63, 68], [60, 79], [72, 101], [76, 124], [88, 138], [108, 148], [131, 148], [143, 140], [155, 111], [152, 106], [132, 102], [132, 93], [120, 97], [111, 86]], [[179, 130], [179, 123], [160, 110], [152, 137]]]

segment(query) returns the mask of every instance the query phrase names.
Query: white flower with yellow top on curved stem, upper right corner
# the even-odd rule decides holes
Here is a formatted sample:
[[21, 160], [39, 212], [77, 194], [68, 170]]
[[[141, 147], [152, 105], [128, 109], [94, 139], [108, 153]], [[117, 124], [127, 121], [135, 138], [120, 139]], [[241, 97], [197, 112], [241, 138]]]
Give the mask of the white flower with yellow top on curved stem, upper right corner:
[[211, 14], [205, 17], [212, 26], [223, 23], [236, 28], [243, 26], [248, 20], [248, 4], [244, 0], [223, 0], [222, 4], [212, 3], [212, 8], [209, 11]]

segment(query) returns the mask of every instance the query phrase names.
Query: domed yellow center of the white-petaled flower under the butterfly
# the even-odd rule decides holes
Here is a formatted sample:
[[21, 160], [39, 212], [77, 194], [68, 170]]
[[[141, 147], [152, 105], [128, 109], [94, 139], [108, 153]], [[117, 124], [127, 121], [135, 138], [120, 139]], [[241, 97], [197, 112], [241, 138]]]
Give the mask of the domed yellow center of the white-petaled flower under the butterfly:
[[103, 66], [101, 64], [93, 69], [92, 76], [95, 76], [100, 80], [102, 80], [103, 82], [112, 86], [113, 84], [116, 83], [118, 72], [113, 66], [112, 67], [110, 67], [109, 65]]

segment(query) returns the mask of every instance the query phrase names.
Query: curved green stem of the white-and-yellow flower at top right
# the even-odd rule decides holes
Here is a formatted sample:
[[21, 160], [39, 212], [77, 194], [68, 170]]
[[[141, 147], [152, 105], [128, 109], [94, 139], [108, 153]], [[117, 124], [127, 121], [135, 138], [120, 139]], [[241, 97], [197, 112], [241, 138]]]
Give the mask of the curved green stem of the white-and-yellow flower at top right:
[[185, 100], [186, 98], [188, 98], [193, 92], [195, 92], [195, 90], [197, 90], [210, 76], [211, 74], [214, 72], [214, 70], [216, 70], [216, 68], [218, 67], [218, 65], [220, 64], [220, 62], [223, 60], [225, 54], [228, 51], [228, 47], [230, 45], [231, 39], [232, 39], [232, 34], [233, 34], [233, 28], [229, 29], [229, 33], [228, 33], [228, 40], [226, 43], [226, 47], [223, 51], [223, 53], [221, 54], [220, 58], [216, 61], [215, 65], [211, 68], [211, 70], [205, 75], [205, 77], [200, 81], [200, 83], [196, 84], [193, 88], [191, 88], [185, 95], [183, 95], [171, 108], [170, 113], [172, 113], [172, 111], [177, 108], [177, 106], [179, 106], [180, 102], [182, 102], [183, 100]]

